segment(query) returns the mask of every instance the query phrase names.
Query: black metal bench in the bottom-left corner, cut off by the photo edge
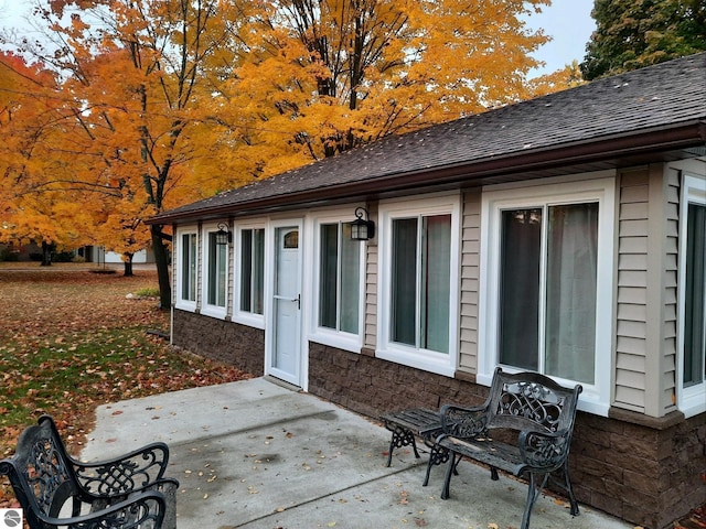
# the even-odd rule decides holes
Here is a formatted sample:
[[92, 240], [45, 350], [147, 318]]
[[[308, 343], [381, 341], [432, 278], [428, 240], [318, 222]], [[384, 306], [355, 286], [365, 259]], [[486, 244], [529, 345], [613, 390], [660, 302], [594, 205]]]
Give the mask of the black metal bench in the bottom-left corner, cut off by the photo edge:
[[179, 482], [164, 478], [169, 449], [152, 443], [121, 457], [71, 457], [54, 421], [42, 415], [0, 461], [31, 529], [175, 529]]

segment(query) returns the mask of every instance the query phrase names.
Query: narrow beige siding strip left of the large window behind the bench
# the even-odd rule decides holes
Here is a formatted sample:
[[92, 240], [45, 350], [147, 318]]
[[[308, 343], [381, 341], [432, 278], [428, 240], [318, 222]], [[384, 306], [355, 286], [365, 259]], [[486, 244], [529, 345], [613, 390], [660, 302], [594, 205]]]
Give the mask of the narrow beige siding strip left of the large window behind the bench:
[[478, 303], [481, 248], [481, 193], [463, 195], [459, 369], [478, 373]]

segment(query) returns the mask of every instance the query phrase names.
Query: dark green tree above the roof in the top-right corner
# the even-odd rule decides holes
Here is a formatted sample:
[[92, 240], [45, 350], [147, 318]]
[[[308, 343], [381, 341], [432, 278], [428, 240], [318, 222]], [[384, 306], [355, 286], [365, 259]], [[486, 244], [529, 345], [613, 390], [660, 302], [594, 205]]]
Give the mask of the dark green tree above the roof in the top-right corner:
[[703, 0], [596, 0], [596, 31], [586, 46], [587, 80], [706, 50]]

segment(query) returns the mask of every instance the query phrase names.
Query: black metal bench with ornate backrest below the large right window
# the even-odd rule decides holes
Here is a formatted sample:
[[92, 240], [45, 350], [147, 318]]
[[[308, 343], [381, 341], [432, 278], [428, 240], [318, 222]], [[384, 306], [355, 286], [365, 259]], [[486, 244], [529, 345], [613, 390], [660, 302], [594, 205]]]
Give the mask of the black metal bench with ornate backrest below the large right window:
[[[443, 406], [441, 429], [435, 444], [449, 458], [441, 498], [449, 497], [451, 475], [463, 457], [484, 463], [491, 478], [498, 469], [528, 477], [527, 499], [521, 529], [528, 529], [532, 508], [552, 478], [568, 494], [573, 516], [579, 514], [569, 479], [568, 455], [581, 386], [565, 388], [536, 373], [503, 373], [496, 368], [483, 406]], [[505, 432], [501, 432], [505, 430]], [[493, 439], [492, 435], [514, 438]], [[429, 461], [429, 465], [432, 462]], [[560, 475], [556, 481], [553, 474]]]

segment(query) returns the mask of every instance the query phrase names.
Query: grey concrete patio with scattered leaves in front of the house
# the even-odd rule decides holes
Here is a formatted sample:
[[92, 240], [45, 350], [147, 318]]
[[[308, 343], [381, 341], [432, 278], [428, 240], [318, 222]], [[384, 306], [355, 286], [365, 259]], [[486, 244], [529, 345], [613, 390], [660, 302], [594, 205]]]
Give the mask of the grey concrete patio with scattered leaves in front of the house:
[[[526, 485], [471, 463], [441, 500], [445, 468], [422, 487], [426, 451], [395, 452], [389, 432], [311, 395], [264, 378], [103, 406], [83, 458], [118, 455], [152, 441], [171, 451], [181, 482], [180, 529], [517, 528]], [[581, 506], [542, 497], [533, 529], [632, 529]]]

